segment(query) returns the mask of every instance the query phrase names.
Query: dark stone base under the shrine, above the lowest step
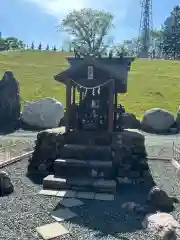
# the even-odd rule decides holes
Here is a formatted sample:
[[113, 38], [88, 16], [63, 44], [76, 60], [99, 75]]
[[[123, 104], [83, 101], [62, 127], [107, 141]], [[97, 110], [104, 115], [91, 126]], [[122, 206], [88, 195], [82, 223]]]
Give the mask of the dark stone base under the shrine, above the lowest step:
[[[128, 178], [140, 182], [151, 176], [144, 142], [142, 134], [130, 130], [113, 134], [64, 133], [62, 128], [41, 131], [28, 172], [56, 177]], [[96, 174], [91, 174], [93, 171]]]

